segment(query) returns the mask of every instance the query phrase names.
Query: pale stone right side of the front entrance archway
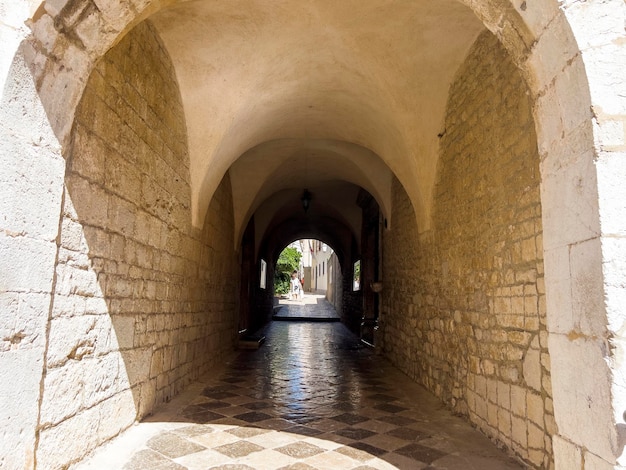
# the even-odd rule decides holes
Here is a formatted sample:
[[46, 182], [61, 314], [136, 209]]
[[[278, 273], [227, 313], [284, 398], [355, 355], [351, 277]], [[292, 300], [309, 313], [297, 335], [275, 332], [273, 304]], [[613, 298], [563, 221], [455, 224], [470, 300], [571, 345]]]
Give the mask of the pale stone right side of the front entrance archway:
[[[505, 31], [519, 28], [510, 28], [505, 21], [490, 29], [513, 60], [521, 59], [518, 65], [534, 95], [541, 158], [545, 308], [558, 426], [553, 438], [556, 466], [612, 468], [623, 450], [621, 425], [616, 427], [616, 423], [623, 420], [624, 398], [623, 366], [618, 359], [621, 340], [614, 336], [620, 336], [615, 320], [622, 308], [610, 292], [614, 292], [616, 277], [623, 276], [618, 274], [623, 267], [615, 262], [622, 257], [619, 242], [608, 240], [622, 236], [623, 227], [610, 220], [623, 220], [623, 208], [602, 193], [614, 186], [614, 178], [624, 175], [615, 152], [623, 140], [607, 139], [608, 129], [621, 119], [618, 116], [624, 108], [610, 103], [606, 94], [617, 72], [600, 79], [594, 70], [614, 54], [614, 41], [623, 37], [617, 18], [623, 19], [624, 5], [598, 2], [572, 3], [562, 11], [556, 5], [545, 8], [539, 15], [520, 8], [520, 17], [532, 31], [527, 54], [519, 53], [503, 37]], [[593, 32], [587, 29], [592, 24]], [[599, 24], [607, 26], [604, 33]], [[605, 107], [611, 111], [605, 113]], [[615, 171], [612, 176], [608, 168]], [[598, 435], [594, 431], [598, 429], [606, 433]]]

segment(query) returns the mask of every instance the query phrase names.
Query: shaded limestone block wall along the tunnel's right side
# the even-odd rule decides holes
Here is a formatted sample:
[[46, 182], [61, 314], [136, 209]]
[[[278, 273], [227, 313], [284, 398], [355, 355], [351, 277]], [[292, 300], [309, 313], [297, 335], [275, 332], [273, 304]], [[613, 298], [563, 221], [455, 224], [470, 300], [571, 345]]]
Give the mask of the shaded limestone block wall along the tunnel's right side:
[[526, 90], [483, 33], [450, 89], [430, 232], [418, 236], [394, 187], [393, 226], [403, 230], [385, 234], [384, 350], [494, 440], [550, 468], [539, 157]]

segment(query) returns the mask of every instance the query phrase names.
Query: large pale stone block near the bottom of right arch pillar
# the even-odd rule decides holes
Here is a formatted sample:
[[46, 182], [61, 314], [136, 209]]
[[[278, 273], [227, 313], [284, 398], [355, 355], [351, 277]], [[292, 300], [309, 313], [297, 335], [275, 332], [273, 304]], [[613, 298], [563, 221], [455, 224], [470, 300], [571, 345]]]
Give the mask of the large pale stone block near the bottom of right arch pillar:
[[605, 362], [603, 341], [551, 334], [549, 350], [559, 434], [607, 461], [615, 460], [611, 371]]

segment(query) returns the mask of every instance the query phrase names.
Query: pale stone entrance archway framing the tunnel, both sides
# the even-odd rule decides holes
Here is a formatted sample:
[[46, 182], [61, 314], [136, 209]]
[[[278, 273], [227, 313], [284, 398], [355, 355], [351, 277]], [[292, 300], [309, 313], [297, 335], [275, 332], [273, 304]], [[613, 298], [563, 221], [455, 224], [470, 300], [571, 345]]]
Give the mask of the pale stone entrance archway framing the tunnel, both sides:
[[[559, 432], [554, 440], [555, 460], [558, 468], [575, 468], [583, 461], [589, 466], [609, 466], [621, 453], [615, 423], [621, 422], [621, 411], [626, 408], [626, 398], [620, 393], [626, 384], [619, 359], [626, 209], [611, 202], [615, 192], [621, 191], [625, 172], [620, 161], [625, 106], [612, 91], [615, 83], [621, 86], [618, 54], [624, 48], [618, 44], [624, 36], [620, 20], [625, 7], [619, 0], [571, 2], [563, 11], [556, 1], [541, 5], [504, 0], [463, 3], [505, 45], [532, 94], [541, 157], [545, 308]], [[3, 284], [14, 294], [9, 311], [24, 324], [33, 325], [32, 331], [10, 336], [8, 343], [20, 344], [22, 335], [38, 338], [32, 348], [24, 349], [22, 344], [22, 349], [16, 347], [19, 353], [3, 357], [7, 367], [37, 364], [31, 367], [25, 386], [28, 393], [22, 397], [30, 405], [20, 415], [26, 433], [33, 437], [16, 442], [9, 436], [3, 442], [7, 449], [14, 445], [24, 449], [26, 462], [35, 441], [32, 430], [39, 382], [49, 346], [47, 313], [42, 312], [47, 312], [55, 282], [63, 149], [96, 61], [132, 25], [161, 5], [96, 6], [70, 1], [59, 10], [42, 5], [29, 12], [24, 7], [22, 16], [6, 21], [16, 23], [16, 28], [3, 30], [3, 37], [16, 47], [27, 39], [2, 57], [6, 86], [0, 116], [6, 142], [3, 166], [16, 169], [8, 174], [4, 189], [10, 218], [2, 226], [2, 248], [9, 254], [3, 259], [7, 266], [30, 260], [22, 276], [3, 280]], [[32, 36], [22, 26], [28, 17]], [[597, 21], [590, 22], [590, 17]], [[33, 169], [35, 162], [41, 165], [39, 172]], [[26, 197], [18, 202], [18, 194]], [[15, 207], [39, 210], [21, 212]], [[18, 307], [25, 293], [38, 299], [35, 313]], [[590, 375], [581, 377], [574, 367], [581, 363]], [[7, 395], [17, 400], [19, 394], [12, 390]], [[590, 422], [594, 425], [586, 424]]]

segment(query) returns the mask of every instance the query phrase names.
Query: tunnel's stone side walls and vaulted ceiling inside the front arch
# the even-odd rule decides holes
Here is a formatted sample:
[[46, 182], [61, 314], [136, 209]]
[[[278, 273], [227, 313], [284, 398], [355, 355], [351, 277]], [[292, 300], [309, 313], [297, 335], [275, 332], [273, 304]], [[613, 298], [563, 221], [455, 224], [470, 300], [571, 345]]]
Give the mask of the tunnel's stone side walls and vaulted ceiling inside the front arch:
[[124, 396], [118, 432], [219, 365], [271, 316], [261, 260], [272, 279], [287, 243], [315, 238], [337, 254], [352, 331], [522, 459], [549, 460], [527, 85], [460, 2], [346, 8], [172, 4], [96, 64], [67, 150], [57, 269], [89, 288], [55, 297], [50, 341], [70, 324], [87, 333], [58, 340], [44, 403], [76, 359], [124, 367], [103, 366], [110, 385], [47, 433]]

